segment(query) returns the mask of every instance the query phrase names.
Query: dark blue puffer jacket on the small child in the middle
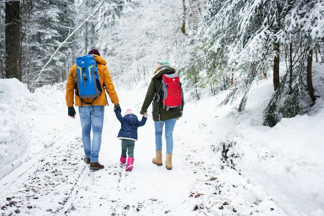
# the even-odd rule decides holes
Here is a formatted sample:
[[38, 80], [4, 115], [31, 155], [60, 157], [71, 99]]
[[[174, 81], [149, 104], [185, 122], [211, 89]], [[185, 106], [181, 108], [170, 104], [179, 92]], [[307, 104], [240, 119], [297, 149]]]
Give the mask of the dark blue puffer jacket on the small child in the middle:
[[114, 111], [121, 123], [121, 129], [117, 138], [137, 141], [137, 128], [143, 126], [147, 118], [143, 116], [142, 120], [139, 121], [134, 114], [128, 114], [122, 117], [118, 109]]

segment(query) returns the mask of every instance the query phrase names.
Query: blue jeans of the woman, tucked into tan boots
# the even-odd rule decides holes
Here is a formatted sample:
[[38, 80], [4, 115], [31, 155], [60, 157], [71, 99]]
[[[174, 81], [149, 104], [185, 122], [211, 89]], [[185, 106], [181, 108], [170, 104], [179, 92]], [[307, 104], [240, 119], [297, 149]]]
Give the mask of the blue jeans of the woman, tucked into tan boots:
[[175, 122], [177, 121], [176, 118], [172, 118], [169, 120], [161, 121], [155, 121], [155, 145], [156, 150], [161, 151], [162, 150], [162, 132], [163, 132], [163, 125], [165, 123], [165, 140], [166, 140], [166, 153], [172, 154], [173, 150], [173, 129]]

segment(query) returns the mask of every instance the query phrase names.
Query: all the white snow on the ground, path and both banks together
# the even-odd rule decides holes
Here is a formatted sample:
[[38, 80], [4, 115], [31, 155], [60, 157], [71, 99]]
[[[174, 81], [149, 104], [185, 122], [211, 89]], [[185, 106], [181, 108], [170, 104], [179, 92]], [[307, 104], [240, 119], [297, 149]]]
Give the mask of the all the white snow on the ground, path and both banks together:
[[[105, 169], [91, 171], [82, 161], [78, 109], [76, 119], [67, 116], [64, 84], [29, 93], [16, 79], [0, 80], [0, 213], [323, 216], [324, 73], [318, 64], [314, 70], [315, 106], [273, 128], [262, 126], [270, 78], [253, 85], [242, 112], [217, 107], [228, 91], [187, 101], [173, 133], [172, 170], [152, 164], [150, 116], [138, 130], [131, 172], [119, 164], [120, 123], [111, 106], [99, 158]], [[117, 85], [122, 110], [140, 118], [146, 88]]]

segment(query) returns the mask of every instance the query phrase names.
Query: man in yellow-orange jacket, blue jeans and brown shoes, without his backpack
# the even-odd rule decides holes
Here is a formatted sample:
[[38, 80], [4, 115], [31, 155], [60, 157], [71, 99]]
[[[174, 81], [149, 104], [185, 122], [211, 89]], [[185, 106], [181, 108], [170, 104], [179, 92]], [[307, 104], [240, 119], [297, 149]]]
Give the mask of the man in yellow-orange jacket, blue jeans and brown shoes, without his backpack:
[[[93, 54], [97, 61], [98, 75], [101, 86], [105, 86], [111, 103], [116, 109], [120, 109], [119, 100], [115, 88], [113, 86], [110, 73], [106, 66], [107, 62], [99, 54], [98, 50], [91, 50], [89, 54]], [[79, 107], [80, 120], [82, 125], [82, 142], [85, 153], [84, 161], [90, 163], [90, 169], [103, 169], [104, 165], [98, 162], [101, 136], [103, 132], [104, 111], [108, 101], [106, 100], [105, 89], [102, 87], [101, 94], [93, 101], [93, 99], [81, 99], [74, 94], [76, 64], [69, 71], [66, 83], [66, 105], [68, 107], [68, 115], [75, 118], [75, 109], [73, 108], [74, 99], [75, 106]], [[89, 104], [87, 104], [89, 103]], [[91, 127], [93, 130], [92, 144], [90, 140]]]

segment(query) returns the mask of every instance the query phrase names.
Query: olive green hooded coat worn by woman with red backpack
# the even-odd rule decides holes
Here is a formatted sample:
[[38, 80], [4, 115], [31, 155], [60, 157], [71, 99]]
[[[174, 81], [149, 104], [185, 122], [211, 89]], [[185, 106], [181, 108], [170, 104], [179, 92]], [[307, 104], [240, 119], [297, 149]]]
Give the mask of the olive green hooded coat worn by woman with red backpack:
[[[158, 106], [159, 111], [161, 115], [161, 121], [165, 121], [172, 118], [178, 118], [182, 116], [182, 110], [184, 106], [184, 101], [182, 98], [182, 104], [181, 106], [177, 108], [169, 108], [168, 111], [166, 109], [163, 109], [163, 104], [159, 103], [158, 95], [161, 95], [161, 84], [162, 84], [162, 74], [172, 74], [175, 73], [175, 70], [172, 67], [169, 66], [161, 66], [161, 69], [153, 76], [151, 83], [149, 85], [149, 89], [147, 90], [145, 101], [142, 106], [142, 111], [147, 112], [147, 109], [149, 108], [151, 102], [154, 99], [153, 103], [153, 120], [159, 121], [159, 115], [158, 115]], [[157, 93], [157, 94], [155, 94]]]

